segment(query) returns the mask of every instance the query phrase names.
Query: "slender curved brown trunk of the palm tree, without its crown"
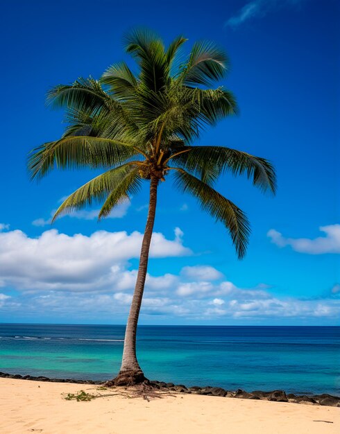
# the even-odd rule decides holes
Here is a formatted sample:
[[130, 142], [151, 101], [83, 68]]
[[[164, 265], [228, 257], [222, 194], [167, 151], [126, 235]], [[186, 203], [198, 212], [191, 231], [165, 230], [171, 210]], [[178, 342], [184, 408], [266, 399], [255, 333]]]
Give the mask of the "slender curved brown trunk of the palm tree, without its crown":
[[132, 385], [136, 383], [142, 383], [142, 381], [146, 380], [137, 361], [136, 333], [139, 311], [144, 293], [146, 272], [148, 269], [148, 252], [150, 250], [153, 224], [155, 223], [158, 181], [159, 180], [157, 177], [151, 177], [148, 218], [146, 220], [146, 227], [140, 252], [137, 281], [135, 285], [135, 292], [133, 293], [133, 301], [131, 302], [130, 306], [130, 313], [128, 315], [128, 323], [126, 324], [121, 369], [117, 377], [113, 380], [114, 385]]

